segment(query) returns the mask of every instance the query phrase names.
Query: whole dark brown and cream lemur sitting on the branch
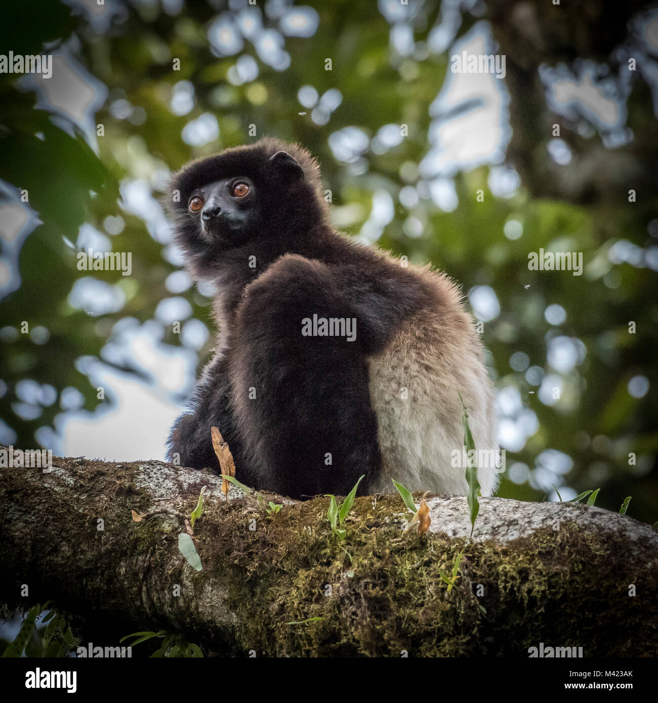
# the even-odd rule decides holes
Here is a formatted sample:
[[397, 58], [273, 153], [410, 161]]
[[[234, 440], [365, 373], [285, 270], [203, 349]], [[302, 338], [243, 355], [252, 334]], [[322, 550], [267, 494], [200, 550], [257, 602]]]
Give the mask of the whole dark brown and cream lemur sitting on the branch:
[[[218, 332], [167, 457], [305, 498], [410, 490], [465, 494], [462, 405], [498, 453], [493, 390], [472, 318], [443, 273], [355, 243], [329, 221], [310, 154], [265, 138], [191, 162], [167, 210], [186, 269], [216, 286]], [[172, 202], [173, 201], [173, 202]], [[479, 468], [484, 496], [494, 465]]]

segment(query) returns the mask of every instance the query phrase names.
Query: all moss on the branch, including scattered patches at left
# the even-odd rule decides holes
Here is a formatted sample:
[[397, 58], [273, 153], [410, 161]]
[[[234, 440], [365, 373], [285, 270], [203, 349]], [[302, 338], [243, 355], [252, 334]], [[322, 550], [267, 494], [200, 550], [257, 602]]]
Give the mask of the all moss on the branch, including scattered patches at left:
[[[341, 540], [327, 522], [328, 498], [284, 505], [267, 515], [253, 496], [228, 502], [213, 496], [205, 499], [194, 530], [203, 571], [192, 573], [177, 553], [182, 520], [160, 515], [132, 522], [131, 509], [153, 511], [160, 505], [141, 488], [139, 463], [111, 471], [84, 460], [63, 463], [72, 470], [83, 502], [72, 506], [64, 494], [37, 484], [34, 511], [59, 514], [59, 520], [75, 527], [70, 541], [89, 544], [87, 563], [94, 574], [114, 572], [110, 538], [116, 553], [146, 555], [146, 566], [136, 568], [146, 569], [157, 602], [145, 622], [139, 595], [134, 597], [134, 610], [126, 614], [136, 621], [132, 631], [175, 622], [189, 641], [204, 643], [208, 653], [255, 650], [258, 656], [400, 657], [408, 652], [411, 657], [525, 657], [540, 642], [583, 647], [585, 656], [658, 655], [657, 569], [627, 559], [623, 534], [602, 536], [582, 527], [583, 521], [562, 520], [557, 531], [546, 527], [500, 546], [441, 533], [403, 534], [409, 514], [399, 496], [362, 497], [353, 505]], [[208, 478], [199, 472], [198, 481], [178, 486], [175, 508], [189, 515]], [[175, 474], [169, 480], [175, 481]], [[278, 500], [263, 497], [265, 504], [270, 497]], [[92, 508], [82, 512], [85, 505]], [[98, 532], [99, 516], [127, 529]], [[4, 520], [11, 524], [12, 516]], [[38, 541], [43, 533], [46, 539], [49, 529], [49, 522], [35, 521], [30, 538]], [[461, 550], [459, 575], [448, 593], [440, 572], [451, 571]], [[649, 545], [647, 553], [654, 553]], [[20, 583], [34, 578], [29, 573], [23, 577], [21, 553], [11, 559], [8, 567], [21, 574]], [[61, 568], [56, 561], [50, 566]], [[207, 610], [197, 618], [194, 607], [176, 620], [179, 604], [167, 600], [171, 585], [184, 584], [188, 602], [207, 607], [209, 579], [221, 589], [216, 603], [210, 602], [222, 611], [228, 607], [235, 624], [212, 628]], [[99, 578], [99, 592], [106, 581], [106, 576]], [[53, 593], [52, 583], [46, 578], [44, 600], [75, 601], [68, 584]], [[637, 595], [629, 595], [630, 584]], [[141, 582], [134, 588], [141, 593]], [[115, 591], [108, 593], [111, 598]], [[6, 589], [5, 598], [9, 595]], [[225, 615], [218, 620], [230, 623]], [[289, 624], [310, 618], [319, 619]]]

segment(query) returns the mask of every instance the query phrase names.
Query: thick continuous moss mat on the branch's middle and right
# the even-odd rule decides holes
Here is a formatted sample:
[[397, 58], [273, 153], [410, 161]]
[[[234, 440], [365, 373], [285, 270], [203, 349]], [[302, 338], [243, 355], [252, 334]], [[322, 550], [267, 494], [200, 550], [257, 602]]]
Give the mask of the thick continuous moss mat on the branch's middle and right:
[[[232, 519], [203, 536], [215, 546], [210, 568], [230, 574], [238, 652], [527, 656], [540, 642], [582, 646], [586, 656], [658, 652], [658, 576], [631, 572], [621, 539], [602, 541], [573, 522], [506, 546], [402, 534], [402, 506], [390, 496], [358, 498], [341, 541], [326, 520], [327, 498], [274, 516], [252, 503], [226, 505]], [[231, 534], [241, 517], [245, 531]], [[438, 572], [450, 571], [462, 549], [448, 593]], [[314, 617], [322, 619], [287, 624]], [[626, 622], [643, 623], [643, 632], [629, 633]]]

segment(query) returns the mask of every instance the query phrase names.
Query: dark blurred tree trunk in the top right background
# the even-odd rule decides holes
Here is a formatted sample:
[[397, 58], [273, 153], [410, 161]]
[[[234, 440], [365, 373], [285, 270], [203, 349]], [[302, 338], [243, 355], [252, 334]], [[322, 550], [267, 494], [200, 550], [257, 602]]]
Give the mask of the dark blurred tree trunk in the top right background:
[[[487, 0], [486, 18], [498, 42], [498, 53], [506, 57], [505, 86], [512, 105], [512, 138], [506, 160], [534, 197], [619, 206], [628, 205], [631, 188], [641, 188], [646, 202], [652, 202], [658, 192], [658, 181], [653, 177], [658, 129], [645, 82], [633, 82], [629, 98], [633, 105], [629, 119], [634, 117], [634, 122], [628, 126], [633, 129], [633, 140], [621, 148], [608, 149], [598, 138], [580, 136], [575, 123], [548, 108], [546, 86], [539, 75], [541, 65], [572, 67], [576, 58], [609, 65], [613, 75], [628, 73], [628, 58], [637, 60], [646, 51], [629, 32], [628, 23], [647, 7], [640, 0], [559, 6], [550, 1]], [[615, 54], [619, 47], [624, 48]], [[635, 75], [640, 75], [640, 69]], [[546, 145], [555, 136], [554, 124], [559, 124], [559, 136], [574, 155], [568, 168], [548, 157]]]

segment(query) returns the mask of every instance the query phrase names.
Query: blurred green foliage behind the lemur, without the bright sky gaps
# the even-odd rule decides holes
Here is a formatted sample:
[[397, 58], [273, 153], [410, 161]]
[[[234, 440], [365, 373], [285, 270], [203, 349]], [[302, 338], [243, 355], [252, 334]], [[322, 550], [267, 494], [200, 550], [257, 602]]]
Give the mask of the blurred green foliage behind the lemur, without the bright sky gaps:
[[[77, 387], [84, 394], [85, 407], [93, 409], [96, 392], [78, 360], [100, 356], [115, 322], [126, 316], [146, 322], [153, 318], [158, 302], [171, 295], [165, 278], [177, 266], [170, 263], [166, 237], [120, 207], [119, 183], [141, 179], [158, 197], [165, 188], [167, 169], [178, 169], [191, 158], [271, 134], [302, 143], [319, 159], [324, 181], [333, 193], [336, 221], [344, 231], [358, 234], [372, 211], [373, 193], [386, 191], [396, 207], [379, 238], [381, 247], [405, 254], [413, 262], [432, 262], [445, 269], [464, 292], [476, 285], [495, 290], [500, 315], [483, 325], [492, 374], [499, 388], [517, 387], [524, 406], [538, 418], [538, 430], [524, 448], [514, 455], [508, 452], [507, 467], [518, 461], [532, 470], [542, 451], [556, 449], [574, 462], [560, 485], [567, 484], [578, 493], [600, 486], [598, 505], [613, 510], [619, 510], [624, 498], [632, 495], [629, 514], [654, 522], [658, 517], [657, 274], [647, 266], [613, 264], [607, 254], [621, 239], [638, 247], [650, 245], [647, 226], [657, 217], [654, 183], [633, 183], [631, 176], [626, 183], [624, 174], [616, 173], [624, 183], [621, 191], [618, 188], [623, 197], [618, 192], [616, 200], [602, 193], [578, 202], [555, 195], [541, 197], [547, 165], [556, 170], [545, 148], [551, 136], [547, 129], [541, 141], [526, 141], [521, 147], [516, 144], [517, 151], [520, 148], [526, 157], [526, 165], [519, 169], [524, 181], [511, 198], [496, 198], [491, 193], [489, 169], [481, 166], [455, 176], [459, 206], [453, 212], [443, 212], [427, 197], [416, 205], [403, 206], [398, 193], [403, 186], [417, 183], [417, 165], [429, 148], [428, 108], [448, 70], [448, 55], [424, 52], [419, 58], [399, 56], [391, 48], [391, 25], [374, 2], [309, 4], [319, 13], [318, 30], [310, 38], [286, 37], [285, 50], [291, 56], [286, 70], [266, 65], [248, 41], [232, 56], [211, 51], [210, 23], [222, 12], [234, 17], [239, 2], [227, 8], [222, 2], [199, 1], [180, 9], [175, 1], [108, 3], [118, 9], [111, 24], [101, 29], [94, 28], [84, 13], [72, 16], [55, 0], [4, 8], [1, 53], [8, 49], [32, 53], [48, 42], [54, 42], [49, 47], [65, 45], [109, 90], [105, 104], [92, 116], [93, 123], [104, 129], [95, 154], [79, 127], [70, 120], [63, 125], [66, 118], [61, 114], [53, 120], [49, 112], [34, 108], [34, 93], [19, 89], [15, 75], [0, 74], [0, 179], [27, 189], [30, 207], [44, 223], [27, 236], [20, 249], [20, 288], [0, 303], [0, 326], [19, 330], [18, 335], [0, 335], [0, 378], [6, 384], [0, 418], [15, 430], [16, 444], [34, 446], [34, 431], [52, 425], [61, 412], [53, 403], [44, 404], [37, 418], [27, 420], [17, 415], [15, 385], [19, 380], [34, 379], [52, 385], [57, 392]], [[488, 7], [498, 12], [502, 5], [492, 2]], [[427, 40], [440, 13], [438, 0], [422, 3], [421, 20], [414, 27], [415, 41], [422, 44]], [[474, 25], [479, 19], [476, 14], [464, 12], [457, 36]], [[495, 30], [494, 14], [492, 11], [490, 19]], [[276, 26], [272, 20], [264, 21]], [[595, 36], [597, 27], [587, 25], [585, 31]], [[583, 33], [578, 37], [582, 39]], [[580, 49], [574, 49], [576, 56]], [[508, 81], [515, 81], [509, 109], [512, 124], [533, 125], [530, 131], [536, 140], [533, 130], [538, 122], [533, 122], [536, 114], [528, 106], [542, 103], [546, 109], [540, 87], [533, 87], [539, 92], [533, 96], [528, 93], [527, 101], [514, 100], [523, 94], [519, 85], [525, 85], [517, 80], [519, 66], [525, 65], [522, 50], [515, 54], [513, 41], [507, 47]], [[564, 53], [564, 42], [560, 51]], [[240, 55], [255, 58], [258, 77], [232, 84], [229, 72]], [[180, 70], [172, 70], [175, 58], [180, 60]], [[326, 58], [332, 59], [332, 70], [325, 70]], [[550, 57], [542, 59], [550, 61]], [[194, 86], [194, 106], [184, 115], [175, 115], [170, 101], [174, 86], [182, 80]], [[329, 89], [341, 91], [342, 102], [326, 124], [316, 124], [310, 110], [300, 105], [298, 90], [305, 85], [314, 86], [320, 95]], [[125, 115], [113, 112], [117, 101], [127, 101]], [[642, 81], [635, 83], [628, 105], [634, 139], [626, 152], [624, 148], [609, 152], [628, 153], [632, 162], [632, 150], [638, 144], [654, 150], [658, 141], [651, 94]], [[206, 112], [217, 118], [219, 137], [204, 146], [189, 146], [182, 139], [182, 129]], [[252, 124], [255, 136], [250, 134]], [[365, 152], [365, 168], [350, 168], [336, 160], [329, 147], [331, 134], [356, 126], [372, 137], [385, 124], [408, 124], [409, 134], [383, 153]], [[519, 127], [515, 134], [520, 133]], [[602, 148], [596, 134], [581, 141], [585, 152], [599, 153]], [[606, 163], [604, 157], [595, 170], [605, 172]], [[558, 178], [576, 165], [559, 168]], [[529, 169], [539, 174], [538, 179], [532, 181]], [[629, 188], [642, 196], [638, 195], [638, 202], [627, 201]], [[484, 193], [483, 202], [476, 200], [479, 189]], [[555, 192], [552, 186], [550, 193]], [[407, 234], [405, 223], [410, 215], [422, 224], [422, 236]], [[125, 297], [120, 311], [94, 317], [73, 309], [68, 302], [75, 280], [87, 275], [75, 267], [75, 243], [83, 222], [103, 232], [108, 216], [125, 221], [111, 243], [114, 251], [132, 252], [132, 276], [93, 273], [95, 278], [120, 286]], [[510, 219], [523, 226], [522, 236], [516, 240], [503, 233]], [[540, 247], [583, 252], [585, 273], [576, 277], [569, 272], [529, 271], [528, 253]], [[210, 325], [208, 297], [196, 288], [182, 295], [191, 303], [193, 315]], [[550, 304], [559, 304], [566, 311], [562, 325], [545, 320], [544, 311]], [[47, 343], [37, 344], [29, 334], [20, 334], [23, 321], [30, 329], [44, 325], [50, 333]], [[630, 321], [636, 325], [634, 334], [628, 332]], [[510, 356], [524, 352], [530, 366], [540, 366], [548, 373], [547, 342], [555, 335], [581, 340], [586, 353], [564, 374], [562, 399], [547, 406], [538, 399], [537, 387], [529, 384], [524, 371], [510, 367]], [[163, 341], [179, 344], [178, 335], [171, 331], [165, 332]], [[210, 346], [209, 342], [203, 349], [200, 365]], [[125, 368], [132, 368], [129, 360]], [[650, 392], [641, 399], [627, 390], [628, 380], [635, 375], [650, 382]], [[148, 408], [140, 411], [148, 412]], [[630, 452], [637, 456], [636, 465], [629, 465]], [[505, 477], [499, 494], [541, 500], [551, 492], [550, 487], [541, 490], [529, 482], [515, 484]]]

